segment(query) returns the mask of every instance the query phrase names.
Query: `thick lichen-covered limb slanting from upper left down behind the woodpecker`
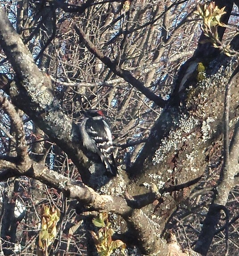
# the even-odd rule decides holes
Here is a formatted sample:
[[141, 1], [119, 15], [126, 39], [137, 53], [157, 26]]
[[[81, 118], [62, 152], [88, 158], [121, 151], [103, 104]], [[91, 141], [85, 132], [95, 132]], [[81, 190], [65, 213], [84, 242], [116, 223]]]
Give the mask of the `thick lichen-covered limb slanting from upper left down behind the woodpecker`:
[[[14, 71], [16, 83], [10, 84], [9, 93], [14, 105], [22, 109], [47, 134], [63, 148], [81, 172], [82, 180], [89, 180], [90, 172], [79, 142], [74, 136], [78, 131], [72, 120], [62, 113], [54, 97], [49, 77], [39, 71], [31, 53], [10, 24], [3, 8], [0, 8], [0, 45]], [[74, 141], [74, 143], [72, 142]]]

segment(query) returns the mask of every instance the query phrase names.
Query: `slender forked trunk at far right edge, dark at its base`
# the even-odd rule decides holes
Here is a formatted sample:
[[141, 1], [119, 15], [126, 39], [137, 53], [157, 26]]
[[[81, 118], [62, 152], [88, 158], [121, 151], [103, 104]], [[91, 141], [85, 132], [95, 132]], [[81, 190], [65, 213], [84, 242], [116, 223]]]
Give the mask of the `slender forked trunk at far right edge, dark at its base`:
[[[224, 152], [224, 163], [221, 170], [220, 180], [218, 182], [218, 193], [215, 195], [215, 199], [211, 204], [206, 218], [203, 223], [202, 232], [199, 236], [198, 242], [195, 246], [195, 251], [201, 253], [206, 256], [214, 234], [216, 233], [216, 226], [221, 218], [221, 210], [225, 212], [228, 211], [225, 207], [227, 203], [227, 199], [231, 189], [235, 186], [234, 176], [237, 174], [239, 170], [238, 157], [239, 152], [235, 152], [235, 148], [238, 148], [239, 143], [239, 135], [238, 135], [238, 125], [237, 123], [233, 135], [233, 140], [231, 143], [231, 151], [232, 155], [230, 155], [229, 148], [229, 110], [231, 104], [231, 85], [232, 80], [235, 75], [239, 72], [239, 67], [236, 67], [233, 71], [225, 91], [225, 101], [224, 101], [224, 138], [223, 138], [223, 152]], [[228, 216], [227, 214], [227, 222]], [[228, 225], [226, 225], [228, 227]], [[226, 239], [227, 239], [227, 229], [226, 229]], [[227, 245], [227, 241], [226, 241]], [[228, 248], [226, 248], [226, 251]]]

